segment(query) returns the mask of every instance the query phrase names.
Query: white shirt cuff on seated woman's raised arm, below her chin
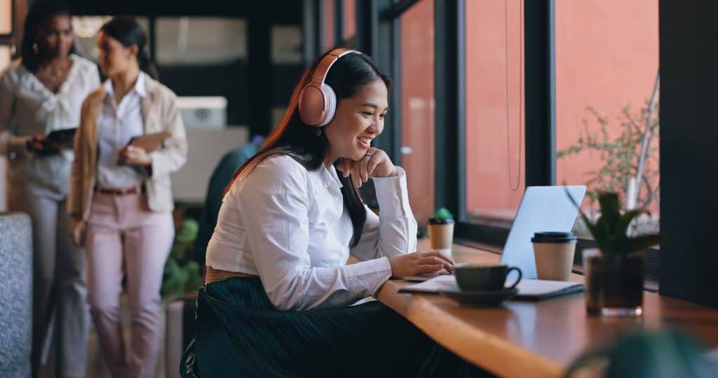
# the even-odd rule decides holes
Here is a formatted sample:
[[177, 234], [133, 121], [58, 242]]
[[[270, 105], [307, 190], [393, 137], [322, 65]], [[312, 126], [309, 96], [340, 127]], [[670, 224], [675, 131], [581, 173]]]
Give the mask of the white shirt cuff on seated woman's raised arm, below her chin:
[[[373, 177], [376, 200], [379, 202], [379, 217], [407, 217], [411, 214], [406, 171], [396, 167], [396, 176]], [[413, 217], [413, 214], [411, 215]]]

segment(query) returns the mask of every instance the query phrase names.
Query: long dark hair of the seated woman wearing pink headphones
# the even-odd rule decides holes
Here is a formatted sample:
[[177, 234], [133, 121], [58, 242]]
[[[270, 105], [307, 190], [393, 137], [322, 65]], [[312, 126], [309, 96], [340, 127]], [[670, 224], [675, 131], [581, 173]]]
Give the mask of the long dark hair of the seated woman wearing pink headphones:
[[[328, 54], [328, 53], [327, 53]], [[307, 125], [299, 118], [299, 93], [312, 80], [312, 73], [317, 67], [319, 60], [309, 67], [294, 88], [292, 98], [286, 107], [284, 117], [279, 126], [266, 138], [261, 150], [246, 161], [234, 174], [232, 181], [225, 189], [225, 192], [236, 182], [245, 179], [252, 169], [269, 156], [284, 154], [291, 156], [295, 161], [302, 164], [309, 171], [316, 171], [323, 164], [329, 141], [324, 132], [317, 136], [316, 128]], [[374, 80], [382, 80], [387, 88], [391, 87], [391, 78], [368, 55], [349, 54], [340, 57], [327, 74], [325, 82], [330, 85], [337, 95], [337, 103], [343, 98], [350, 98], [354, 95], [360, 85], [368, 84]], [[323, 131], [323, 130], [322, 130]], [[359, 197], [351, 176], [344, 177], [337, 175], [342, 183], [342, 197], [344, 206], [352, 219], [354, 234], [350, 247], [355, 247], [361, 239], [362, 228], [366, 222], [366, 209]]]

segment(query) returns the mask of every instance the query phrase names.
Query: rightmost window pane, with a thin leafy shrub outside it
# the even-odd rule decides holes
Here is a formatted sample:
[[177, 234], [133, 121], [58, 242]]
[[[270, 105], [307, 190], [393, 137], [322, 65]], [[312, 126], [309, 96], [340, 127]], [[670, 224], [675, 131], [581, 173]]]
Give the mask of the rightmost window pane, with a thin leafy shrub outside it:
[[556, 0], [556, 179], [589, 186], [587, 210], [598, 190], [647, 207], [641, 232], [660, 212], [657, 75], [657, 0]]

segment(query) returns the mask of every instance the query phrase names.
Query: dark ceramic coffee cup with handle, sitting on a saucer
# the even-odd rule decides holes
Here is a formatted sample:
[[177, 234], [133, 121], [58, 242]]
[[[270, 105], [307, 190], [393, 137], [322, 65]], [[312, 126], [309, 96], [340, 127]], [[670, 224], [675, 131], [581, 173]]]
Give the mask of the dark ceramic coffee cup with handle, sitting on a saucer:
[[[508, 288], [504, 287], [511, 270], [518, 272], [518, 279]], [[496, 291], [512, 289], [521, 281], [521, 269], [502, 263], [462, 263], [454, 268], [456, 283], [462, 291]]]

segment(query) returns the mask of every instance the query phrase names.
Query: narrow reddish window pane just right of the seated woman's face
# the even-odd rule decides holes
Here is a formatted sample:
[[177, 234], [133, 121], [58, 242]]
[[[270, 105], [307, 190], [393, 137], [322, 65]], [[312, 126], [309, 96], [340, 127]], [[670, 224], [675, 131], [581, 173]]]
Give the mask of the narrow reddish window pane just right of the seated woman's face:
[[399, 22], [402, 165], [411, 209], [426, 227], [434, 213], [434, 1], [419, 1]]

